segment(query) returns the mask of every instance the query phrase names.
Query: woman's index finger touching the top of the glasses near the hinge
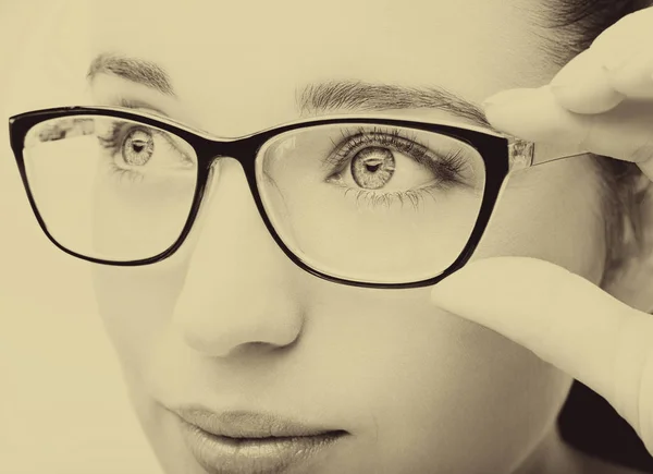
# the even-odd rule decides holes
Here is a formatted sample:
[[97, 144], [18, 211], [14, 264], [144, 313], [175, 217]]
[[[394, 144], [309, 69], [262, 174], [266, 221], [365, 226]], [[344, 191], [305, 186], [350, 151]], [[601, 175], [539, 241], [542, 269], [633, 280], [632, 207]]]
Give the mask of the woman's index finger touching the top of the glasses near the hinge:
[[498, 130], [531, 142], [569, 144], [588, 151], [637, 162], [653, 180], [653, 105], [624, 101], [600, 114], [560, 107], [550, 87], [514, 89], [503, 101], [485, 105]]

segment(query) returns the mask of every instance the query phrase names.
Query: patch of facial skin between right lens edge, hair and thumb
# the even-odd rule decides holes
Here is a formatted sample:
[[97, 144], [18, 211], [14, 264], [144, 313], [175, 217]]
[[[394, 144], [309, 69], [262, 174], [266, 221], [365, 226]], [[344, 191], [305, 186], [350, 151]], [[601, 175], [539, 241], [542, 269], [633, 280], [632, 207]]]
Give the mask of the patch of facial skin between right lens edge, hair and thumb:
[[588, 157], [515, 173], [472, 259], [534, 257], [597, 283], [606, 253], [599, 183]]

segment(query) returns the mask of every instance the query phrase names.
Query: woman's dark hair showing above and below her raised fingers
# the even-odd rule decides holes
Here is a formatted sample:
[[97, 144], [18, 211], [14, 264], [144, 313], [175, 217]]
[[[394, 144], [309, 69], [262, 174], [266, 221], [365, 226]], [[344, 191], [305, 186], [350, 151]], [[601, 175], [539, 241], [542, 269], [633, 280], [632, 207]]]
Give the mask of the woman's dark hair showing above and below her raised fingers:
[[[546, 5], [544, 27], [554, 31], [555, 40], [547, 41], [546, 52], [562, 66], [620, 19], [652, 4], [653, 0], [553, 0]], [[638, 256], [644, 239], [641, 212], [646, 196], [637, 185], [642, 174], [637, 165], [600, 155], [593, 158], [603, 194], [605, 284], [626, 259]]]

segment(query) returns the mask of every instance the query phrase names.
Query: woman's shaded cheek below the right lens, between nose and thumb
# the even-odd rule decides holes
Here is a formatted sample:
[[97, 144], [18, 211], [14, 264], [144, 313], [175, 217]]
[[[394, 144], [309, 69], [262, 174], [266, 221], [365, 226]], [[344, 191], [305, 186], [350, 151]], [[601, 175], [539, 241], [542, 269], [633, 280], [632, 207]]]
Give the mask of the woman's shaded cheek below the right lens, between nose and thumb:
[[357, 448], [396, 462], [389, 472], [407, 459], [412, 472], [510, 472], [568, 392], [568, 376], [433, 307], [428, 289], [313, 301], [295, 386], [322, 387], [313, 401], [359, 420], [367, 436]]

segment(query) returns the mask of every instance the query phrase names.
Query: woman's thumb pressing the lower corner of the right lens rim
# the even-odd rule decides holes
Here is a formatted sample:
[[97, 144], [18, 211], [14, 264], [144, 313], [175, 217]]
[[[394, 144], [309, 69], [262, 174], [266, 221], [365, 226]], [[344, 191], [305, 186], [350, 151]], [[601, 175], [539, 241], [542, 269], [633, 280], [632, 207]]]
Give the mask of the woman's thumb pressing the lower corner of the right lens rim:
[[650, 429], [642, 420], [653, 420], [653, 399], [642, 397], [653, 396], [646, 366], [653, 361], [653, 316], [556, 265], [523, 257], [469, 264], [433, 287], [431, 297], [586, 384], [640, 435]]

